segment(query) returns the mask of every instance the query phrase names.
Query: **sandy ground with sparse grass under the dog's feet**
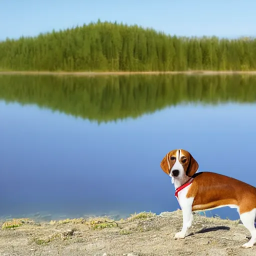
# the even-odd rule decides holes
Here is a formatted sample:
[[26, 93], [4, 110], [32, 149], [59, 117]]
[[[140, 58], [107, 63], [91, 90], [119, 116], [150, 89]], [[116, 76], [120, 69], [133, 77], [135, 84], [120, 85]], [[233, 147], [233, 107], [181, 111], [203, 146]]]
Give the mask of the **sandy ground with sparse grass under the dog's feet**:
[[241, 248], [249, 235], [239, 221], [208, 218], [194, 214], [194, 222], [184, 239], [174, 239], [182, 223], [181, 210], [160, 215], [135, 215], [111, 222], [105, 219], [64, 221], [1, 222], [0, 255], [256, 255], [253, 248]]

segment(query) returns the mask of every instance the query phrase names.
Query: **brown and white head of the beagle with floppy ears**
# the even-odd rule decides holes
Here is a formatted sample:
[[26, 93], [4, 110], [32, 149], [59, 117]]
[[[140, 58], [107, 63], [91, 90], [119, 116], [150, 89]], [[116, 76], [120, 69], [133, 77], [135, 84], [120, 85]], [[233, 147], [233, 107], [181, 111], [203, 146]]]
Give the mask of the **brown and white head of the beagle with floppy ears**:
[[185, 177], [191, 177], [198, 169], [198, 163], [193, 156], [184, 149], [174, 149], [169, 151], [162, 159], [160, 166], [174, 182]]

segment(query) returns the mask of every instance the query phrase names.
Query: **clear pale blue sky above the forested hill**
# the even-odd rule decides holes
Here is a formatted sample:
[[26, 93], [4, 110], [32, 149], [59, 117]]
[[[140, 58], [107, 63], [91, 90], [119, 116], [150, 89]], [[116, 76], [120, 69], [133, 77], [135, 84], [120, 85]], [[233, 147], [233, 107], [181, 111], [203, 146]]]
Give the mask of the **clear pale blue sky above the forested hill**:
[[185, 36], [256, 35], [255, 0], [0, 0], [0, 39], [98, 18]]

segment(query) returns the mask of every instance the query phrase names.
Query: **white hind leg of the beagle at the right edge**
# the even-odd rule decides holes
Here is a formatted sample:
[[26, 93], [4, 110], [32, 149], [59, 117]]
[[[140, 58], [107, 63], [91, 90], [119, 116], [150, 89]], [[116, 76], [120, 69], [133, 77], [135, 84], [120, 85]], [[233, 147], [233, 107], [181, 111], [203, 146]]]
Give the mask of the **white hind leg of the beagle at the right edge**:
[[244, 248], [250, 248], [256, 242], [256, 228], [254, 225], [255, 216], [256, 208], [240, 214], [240, 219], [243, 225], [249, 230], [251, 234], [251, 238], [249, 239], [249, 241], [242, 245], [242, 247]]

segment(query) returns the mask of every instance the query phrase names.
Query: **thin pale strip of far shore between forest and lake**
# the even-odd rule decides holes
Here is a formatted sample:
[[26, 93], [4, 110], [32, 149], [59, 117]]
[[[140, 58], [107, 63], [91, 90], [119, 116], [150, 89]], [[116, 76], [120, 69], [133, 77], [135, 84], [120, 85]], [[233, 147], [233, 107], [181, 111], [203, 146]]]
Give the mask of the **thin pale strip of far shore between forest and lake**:
[[0, 74], [24, 74], [24, 75], [132, 75], [132, 74], [186, 74], [186, 75], [218, 75], [218, 74], [250, 74], [255, 75], [256, 70], [251, 71], [213, 71], [213, 70], [187, 70], [187, 71], [0, 71]]

